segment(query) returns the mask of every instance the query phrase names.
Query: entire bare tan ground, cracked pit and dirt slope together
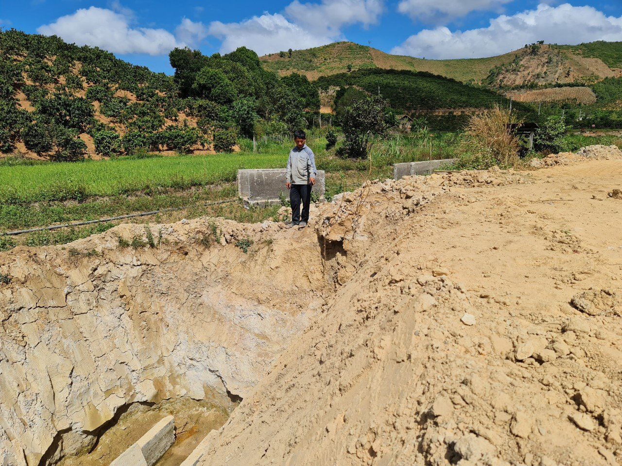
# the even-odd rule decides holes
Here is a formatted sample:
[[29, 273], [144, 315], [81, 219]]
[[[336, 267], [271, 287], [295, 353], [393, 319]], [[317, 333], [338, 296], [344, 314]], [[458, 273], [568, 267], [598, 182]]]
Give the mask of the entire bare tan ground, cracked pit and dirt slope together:
[[616, 464], [620, 160], [2, 254], [0, 465], [109, 464], [171, 413], [158, 466]]

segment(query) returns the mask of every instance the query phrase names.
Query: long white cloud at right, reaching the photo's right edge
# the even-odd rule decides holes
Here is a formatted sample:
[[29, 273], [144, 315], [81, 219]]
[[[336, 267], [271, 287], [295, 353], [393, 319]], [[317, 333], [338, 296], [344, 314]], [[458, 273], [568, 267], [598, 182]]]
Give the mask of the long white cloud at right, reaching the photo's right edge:
[[537, 40], [570, 45], [593, 40], [620, 41], [622, 17], [606, 16], [590, 6], [540, 4], [535, 10], [491, 19], [490, 26], [480, 29], [424, 29], [391, 53], [427, 58], [491, 57]]

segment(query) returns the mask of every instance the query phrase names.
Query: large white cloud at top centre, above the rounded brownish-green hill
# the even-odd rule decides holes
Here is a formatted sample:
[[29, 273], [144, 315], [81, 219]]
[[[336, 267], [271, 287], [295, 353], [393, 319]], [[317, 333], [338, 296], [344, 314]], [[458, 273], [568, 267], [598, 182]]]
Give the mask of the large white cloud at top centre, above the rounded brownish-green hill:
[[254, 16], [241, 22], [214, 21], [209, 32], [223, 42], [221, 52], [244, 45], [259, 55], [288, 48], [309, 48], [342, 40], [341, 28], [360, 23], [375, 24], [383, 11], [383, 0], [294, 0], [284, 12]]

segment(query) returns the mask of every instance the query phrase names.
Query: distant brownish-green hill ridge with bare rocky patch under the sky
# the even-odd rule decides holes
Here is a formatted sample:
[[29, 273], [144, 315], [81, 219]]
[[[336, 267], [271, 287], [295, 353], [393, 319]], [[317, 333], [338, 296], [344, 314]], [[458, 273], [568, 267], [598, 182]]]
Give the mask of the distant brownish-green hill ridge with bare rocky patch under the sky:
[[266, 70], [280, 75], [320, 76], [368, 68], [427, 71], [458, 81], [491, 86], [530, 86], [594, 81], [622, 73], [622, 42], [581, 45], [531, 44], [497, 57], [425, 60], [391, 55], [352, 42], [335, 42], [307, 50], [272, 53], [261, 57]]

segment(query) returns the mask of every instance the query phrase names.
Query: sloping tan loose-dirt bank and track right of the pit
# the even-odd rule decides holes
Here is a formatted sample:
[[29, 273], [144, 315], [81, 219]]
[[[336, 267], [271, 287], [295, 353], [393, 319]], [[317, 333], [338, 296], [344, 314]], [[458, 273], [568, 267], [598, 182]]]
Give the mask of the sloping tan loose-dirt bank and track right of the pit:
[[377, 183], [323, 212], [343, 286], [200, 464], [618, 464], [617, 158]]

